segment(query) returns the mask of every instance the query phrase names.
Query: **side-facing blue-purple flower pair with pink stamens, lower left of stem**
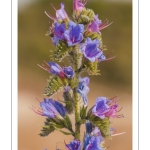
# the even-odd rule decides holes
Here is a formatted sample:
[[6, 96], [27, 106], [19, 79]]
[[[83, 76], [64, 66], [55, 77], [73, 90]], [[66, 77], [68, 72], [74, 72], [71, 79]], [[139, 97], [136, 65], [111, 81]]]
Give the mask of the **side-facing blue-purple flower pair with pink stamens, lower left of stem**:
[[64, 117], [66, 115], [64, 106], [53, 99], [46, 100], [44, 98], [44, 101], [40, 102], [40, 107], [41, 109], [39, 110], [35, 110], [35, 108], [32, 108], [32, 110], [37, 114], [47, 116], [48, 118]]

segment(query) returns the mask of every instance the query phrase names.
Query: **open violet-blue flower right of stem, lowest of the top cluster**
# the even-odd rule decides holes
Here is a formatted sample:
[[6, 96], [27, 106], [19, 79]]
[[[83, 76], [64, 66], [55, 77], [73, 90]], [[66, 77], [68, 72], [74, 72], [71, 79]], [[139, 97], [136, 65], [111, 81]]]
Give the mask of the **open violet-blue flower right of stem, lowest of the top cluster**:
[[85, 43], [81, 44], [81, 51], [84, 54], [84, 57], [89, 59], [91, 62], [94, 62], [100, 57], [101, 50], [98, 48], [100, 45], [100, 41], [98, 39], [91, 40], [91, 38], [87, 38]]

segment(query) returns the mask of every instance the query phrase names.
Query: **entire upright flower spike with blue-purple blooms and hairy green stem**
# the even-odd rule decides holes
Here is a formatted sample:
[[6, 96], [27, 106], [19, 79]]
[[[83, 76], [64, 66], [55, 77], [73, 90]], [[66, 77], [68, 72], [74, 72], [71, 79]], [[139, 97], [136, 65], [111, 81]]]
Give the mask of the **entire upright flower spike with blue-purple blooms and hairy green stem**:
[[[87, 0], [73, 0], [72, 18], [66, 13], [64, 3], [58, 10], [52, 5], [56, 16], [45, 12], [53, 21], [48, 33], [56, 47], [51, 51], [52, 59], [61, 62], [67, 58], [69, 65], [61, 67], [53, 61], [38, 65], [50, 73], [44, 93], [48, 99], [40, 102], [40, 109], [32, 107], [34, 112], [46, 117], [41, 136], [58, 130], [74, 137], [69, 144], [65, 143], [67, 150], [105, 150], [105, 138], [115, 132], [110, 126], [110, 118], [123, 117], [122, 114], [117, 115], [122, 109], [118, 110], [117, 97], [97, 97], [93, 107], [87, 111], [90, 78], [82, 77], [81, 73], [86, 71], [90, 75], [98, 75], [98, 64], [112, 58], [106, 58], [101, 37], [101, 30], [111, 23], [99, 20], [93, 10], [85, 7], [86, 3]], [[63, 92], [62, 100], [53, 100], [51, 96], [60, 90]], [[75, 129], [69, 118], [71, 113], [75, 114]], [[81, 141], [82, 124], [85, 124], [86, 133]]]

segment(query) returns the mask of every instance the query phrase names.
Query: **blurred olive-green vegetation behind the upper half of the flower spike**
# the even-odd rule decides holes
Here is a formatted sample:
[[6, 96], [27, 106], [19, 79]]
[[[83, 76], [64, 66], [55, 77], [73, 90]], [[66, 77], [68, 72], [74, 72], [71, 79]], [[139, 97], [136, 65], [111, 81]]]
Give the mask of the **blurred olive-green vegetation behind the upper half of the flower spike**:
[[[18, 68], [31, 74], [47, 74], [37, 64], [50, 61], [50, 50], [54, 49], [49, 37], [45, 36], [52, 21], [44, 11], [55, 15], [50, 3], [60, 8], [59, 0], [39, 0], [18, 13]], [[63, 0], [65, 10], [71, 17], [72, 1]], [[111, 61], [100, 63], [101, 76], [92, 77], [99, 83], [132, 88], [132, 5], [131, 3], [106, 3], [90, 1], [86, 5], [92, 8], [99, 18], [108, 19], [113, 24], [102, 30], [103, 43], [107, 47], [106, 56], [117, 55]], [[21, 77], [20, 77], [21, 78]], [[23, 80], [28, 80], [22, 77]]]

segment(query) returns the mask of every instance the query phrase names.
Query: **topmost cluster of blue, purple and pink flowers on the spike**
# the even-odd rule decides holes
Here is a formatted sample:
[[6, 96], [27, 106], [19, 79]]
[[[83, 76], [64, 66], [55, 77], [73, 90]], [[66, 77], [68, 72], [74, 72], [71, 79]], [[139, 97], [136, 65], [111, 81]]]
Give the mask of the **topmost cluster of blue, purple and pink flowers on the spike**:
[[[86, 8], [84, 7], [86, 2], [82, 3], [81, 0], [74, 0], [74, 17], [78, 17], [78, 19], [74, 19], [74, 21], [68, 17], [64, 10], [63, 3], [61, 3], [61, 9], [59, 10], [56, 10], [56, 8], [52, 5], [56, 11], [56, 17], [52, 17], [46, 12], [47, 16], [54, 20], [52, 27], [50, 27], [49, 35], [52, 37], [52, 42], [55, 46], [62, 42], [67, 44], [68, 47], [78, 45], [80, 47], [80, 52], [90, 62], [105, 61], [106, 56], [103, 53], [102, 42], [98, 39], [98, 37], [101, 36], [100, 31], [110, 24], [108, 24], [108, 21], [102, 22], [99, 20], [98, 15], [95, 15], [92, 10], [90, 10], [91, 12], [86, 12]], [[77, 21], [82, 18], [81, 14], [83, 10], [88, 14], [93, 13], [92, 18], [89, 18], [91, 21], [88, 21], [88, 23], [84, 20], [80, 21], [81, 23], [78, 23]], [[97, 35], [97, 33], [99, 35]]]

